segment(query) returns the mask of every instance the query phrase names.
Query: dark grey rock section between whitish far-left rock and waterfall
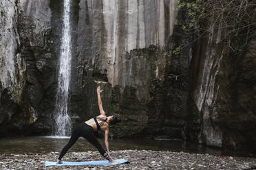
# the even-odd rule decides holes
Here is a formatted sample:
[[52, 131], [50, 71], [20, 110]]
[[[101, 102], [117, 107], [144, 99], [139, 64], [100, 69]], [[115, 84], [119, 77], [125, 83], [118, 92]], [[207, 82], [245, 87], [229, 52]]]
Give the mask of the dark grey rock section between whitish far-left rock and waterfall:
[[[56, 51], [52, 31], [51, 1], [19, 1], [19, 25], [21, 56], [26, 63], [23, 89], [23, 115], [30, 120], [24, 128], [32, 126], [28, 133], [49, 133], [52, 127], [52, 110], [56, 96]], [[57, 6], [57, 5], [56, 5]], [[59, 24], [58, 24], [59, 25]], [[55, 42], [58, 42], [56, 40]], [[31, 119], [36, 115], [36, 119]], [[34, 120], [34, 121], [32, 121]]]

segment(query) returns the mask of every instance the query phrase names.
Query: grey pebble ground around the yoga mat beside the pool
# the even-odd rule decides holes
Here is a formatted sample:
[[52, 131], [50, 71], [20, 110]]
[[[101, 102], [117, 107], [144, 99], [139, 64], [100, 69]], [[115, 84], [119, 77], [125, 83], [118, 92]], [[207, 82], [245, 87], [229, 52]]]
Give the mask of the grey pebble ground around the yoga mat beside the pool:
[[[256, 158], [189, 154], [172, 151], [111, 151], [111, 157], [124, 158], [129, 164], [105, 166], [47, 167], [46, 169], [256, 169]], [[0, 169], [45, 169], [44, 162], [56, 161], [57, 152], [49, 154], [1, 154]], [[63, 161], [103, 160], [98, 151], [70, 152]]]

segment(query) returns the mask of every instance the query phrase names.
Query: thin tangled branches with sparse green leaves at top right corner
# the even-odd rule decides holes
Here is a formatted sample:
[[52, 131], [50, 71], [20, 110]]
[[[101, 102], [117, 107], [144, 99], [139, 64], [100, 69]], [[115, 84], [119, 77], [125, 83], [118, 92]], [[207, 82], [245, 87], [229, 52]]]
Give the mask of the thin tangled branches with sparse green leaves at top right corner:
[[[184, 32], [209, 35], [221, 33], [221, 41], [233, 51], [247, 44], [248, 35], [256, 27], [256, 1], [253, 0], [193, 0], [178, 1], [178, 10], [189, 21], [182, 25]], [[239, 40], [236, 40], [236, 39]]]

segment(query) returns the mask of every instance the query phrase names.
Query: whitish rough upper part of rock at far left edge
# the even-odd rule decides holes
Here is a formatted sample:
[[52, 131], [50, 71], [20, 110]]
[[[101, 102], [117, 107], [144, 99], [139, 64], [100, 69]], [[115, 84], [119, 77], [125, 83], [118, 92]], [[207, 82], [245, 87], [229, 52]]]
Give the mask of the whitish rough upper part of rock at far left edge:
[[[20, 44], [17, 31], [18, 9], [15, 1], [1, 1], [1, 25], [0, 25], [0, 82], [1, 93], [4, 89], [8, 90], [14, 102], [19, 103], [23, 82], [19, 76], [23, 75], [23, 61], [17, 49]], [[1, 94], [0, 93], [0, 94]]]

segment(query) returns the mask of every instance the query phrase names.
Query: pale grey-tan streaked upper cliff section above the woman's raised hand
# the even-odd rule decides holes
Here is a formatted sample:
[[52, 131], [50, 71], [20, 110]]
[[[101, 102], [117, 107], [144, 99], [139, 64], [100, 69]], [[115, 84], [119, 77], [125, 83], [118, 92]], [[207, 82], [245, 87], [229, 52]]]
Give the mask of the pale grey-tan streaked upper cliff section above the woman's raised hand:
[[108, 80], [113, 86], [131, 86], [125, 80], [126, 72], [121, 71], [125, 68], [122, 63], [127, 60], [123, 57], [126, 52], [149, 45], [166, 45], [173, 29], [168, 23], [175, 23], [176, 19], [175, 6], [175, 1], [163, 0], [103, 1], [106, 32], [102, 38], [106, 41], [104, 57], [107, 62], [103, 60], [100, 65], [107, 69]]

